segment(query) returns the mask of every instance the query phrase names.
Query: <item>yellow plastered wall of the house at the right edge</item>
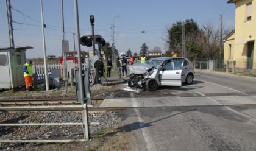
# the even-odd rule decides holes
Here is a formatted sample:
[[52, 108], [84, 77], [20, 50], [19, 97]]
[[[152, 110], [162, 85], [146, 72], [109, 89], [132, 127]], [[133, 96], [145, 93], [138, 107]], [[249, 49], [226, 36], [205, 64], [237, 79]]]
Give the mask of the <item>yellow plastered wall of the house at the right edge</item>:
[[[247, 21], [247, 5], [252, 2], [252, 19]], [[240, 0], [236, 2], [235, 9], [235, 49], [233, 59], [236, 61], [236, 68], [246, 70], [247, 63], [247, 43], [238, 44], [241, 41], [255, 40], [256, 38], [256, 1], [255, 0]], [[256, 49], [254, 41], [254, 66], [256, 69]], [[226, 47], [225, 47], [226, 49]], [[227, 50], [225, 50], [227, 51]], [[224, 60], [226, 61], [226, 60]]]

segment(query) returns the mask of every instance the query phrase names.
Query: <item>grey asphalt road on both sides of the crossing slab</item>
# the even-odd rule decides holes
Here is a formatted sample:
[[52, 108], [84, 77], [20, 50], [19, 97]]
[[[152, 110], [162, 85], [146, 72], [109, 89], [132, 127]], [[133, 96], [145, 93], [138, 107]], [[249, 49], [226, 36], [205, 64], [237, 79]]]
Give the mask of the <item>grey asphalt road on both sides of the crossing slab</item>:
[[[193, 85], [165, 87], [154, 93], [127, 92], [138, 97], [249, 96], [256, 101], [256, 79], [196, 71]], [[229, 99], [230, 98], [230, 99]], [[243, 102], [243, 99], [240, 100]], [[145, 107], [121, 112], [126, 132], [135, 136], [137, 150], [256, 150], [256, 106], [235, 107]]]

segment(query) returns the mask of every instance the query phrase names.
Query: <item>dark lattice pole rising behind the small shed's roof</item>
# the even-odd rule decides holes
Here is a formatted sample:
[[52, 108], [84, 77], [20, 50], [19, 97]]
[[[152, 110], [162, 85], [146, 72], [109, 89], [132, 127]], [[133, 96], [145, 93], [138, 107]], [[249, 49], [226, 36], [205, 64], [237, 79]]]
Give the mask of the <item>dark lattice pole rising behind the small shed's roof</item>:
[[10, 47], [14, 48], [13, 27], [12, 27], [12, 6], [10, 4], [10, 0], [6, 0], [6, 10], [7, 10]]

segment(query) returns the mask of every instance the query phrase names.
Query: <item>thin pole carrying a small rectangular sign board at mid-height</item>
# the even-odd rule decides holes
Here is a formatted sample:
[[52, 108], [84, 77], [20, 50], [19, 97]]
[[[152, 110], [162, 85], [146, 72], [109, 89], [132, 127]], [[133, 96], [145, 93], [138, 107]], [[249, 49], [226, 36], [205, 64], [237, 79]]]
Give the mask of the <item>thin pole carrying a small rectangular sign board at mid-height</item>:
[[[65, 41], [66, 37], [65, 37], [65, 29], [64, 29], [63, 0], [61, 0], [61, 2], [62, 2], [62, 41]], [[62, 42], [62, 45], [63, 45], [63, 42]], [[63, 66], [64, 67], [63, 68], [64, 85], [65, 85], [66, 93], [68, 93], [68, 72], [67, 72], [67, 66], [66, 66], [66, 52], [64, 51], [63, 46], [62, 46], [62, 54], [63, 54], [63, 64], [64, 64]]]

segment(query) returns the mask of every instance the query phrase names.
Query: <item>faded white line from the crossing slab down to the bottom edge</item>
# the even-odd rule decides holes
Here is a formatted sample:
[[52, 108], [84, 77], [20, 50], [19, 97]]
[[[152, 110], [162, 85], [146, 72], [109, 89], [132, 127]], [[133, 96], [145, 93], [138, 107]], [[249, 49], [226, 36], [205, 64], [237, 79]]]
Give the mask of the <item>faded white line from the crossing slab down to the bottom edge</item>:
[[[134, 99], [134, 94], [130, 93], [130, 96], [132, 98], [132, 105], [133, 107], [138, 107], [137, 101]], [[138, 122], [140, 123], [140, 129], [147, 147], [148, 151], [156, 151], [157, 147], [155, 147], [155, 143], [152, 140], [149, 130], [147, 127], [144, 127], [144, 125], [142, 123], [144, 123], [143, 119], [141, 118], [141, 113], [140, 110], [138, 110], [138, 108], [134, 108], [135, 113], [138, 116]]]

